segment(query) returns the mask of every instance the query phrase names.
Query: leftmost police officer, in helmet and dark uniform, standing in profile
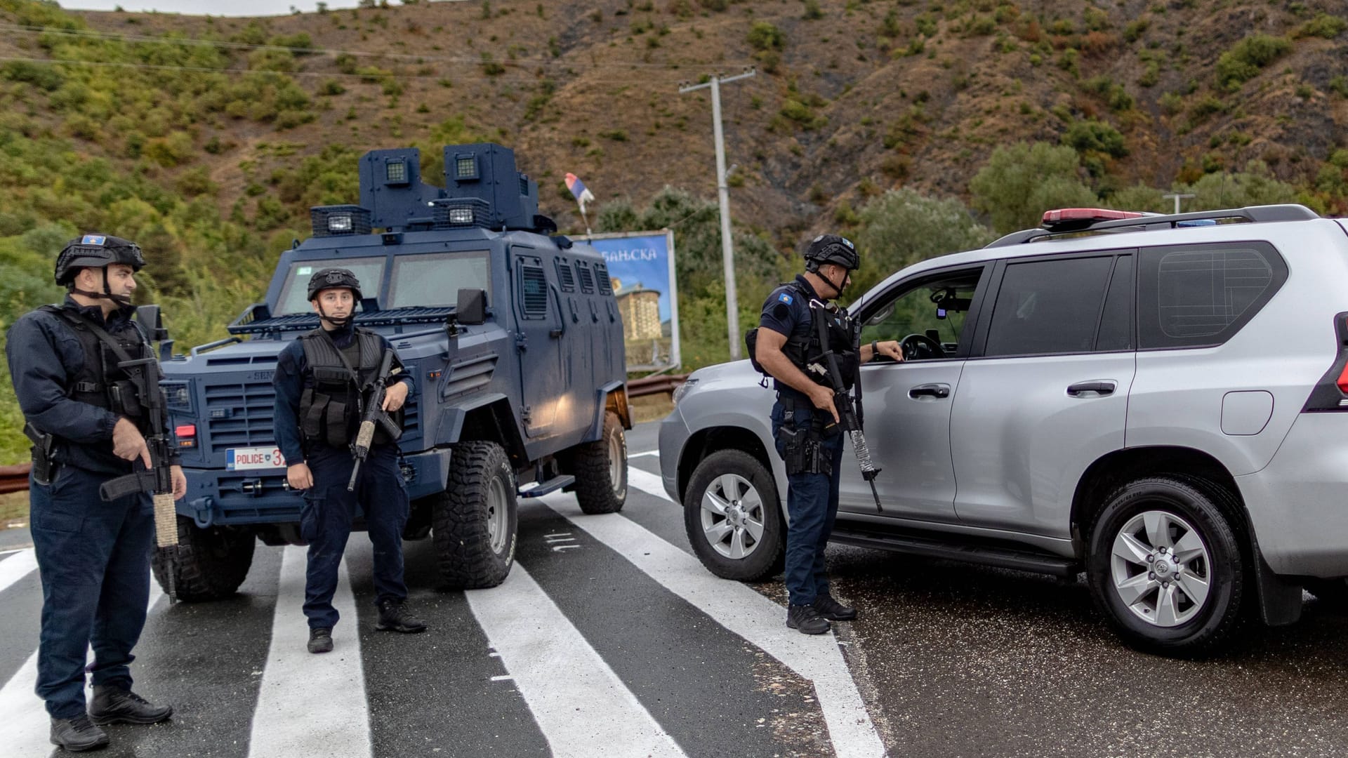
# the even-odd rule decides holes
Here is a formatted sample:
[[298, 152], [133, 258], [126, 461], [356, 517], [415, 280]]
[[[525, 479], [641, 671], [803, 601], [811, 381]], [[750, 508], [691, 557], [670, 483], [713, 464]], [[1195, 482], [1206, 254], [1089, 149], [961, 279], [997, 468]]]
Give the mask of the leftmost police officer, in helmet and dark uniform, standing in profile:
[[[9, 329], [5, 353], [34, 438], [32, 545], [42, 576], [38, 696], [51, 742], [70, 751], [108, 745], [101, 724], [154, 724], [173, 715], [131, 691], [131, 650], [146, 623], [154, 506], [147, 494], [102, 502], [98, 486], [151, 465], [150, 418], [117, 368], [152, 356], [131, 320], [140, 248], [106, 235], [71, 240], [55, 278], [69, 294]], [[151, 364], [154, 367], [154, 364]], [[152, 384], [155, 386], [155, 384]], [[164, 419], [167, 424], [167, 419]], [[173, 495], [187, 480], [177, 460]], [[85, 655], [93, 647], [93, 701], [85, 711]]]

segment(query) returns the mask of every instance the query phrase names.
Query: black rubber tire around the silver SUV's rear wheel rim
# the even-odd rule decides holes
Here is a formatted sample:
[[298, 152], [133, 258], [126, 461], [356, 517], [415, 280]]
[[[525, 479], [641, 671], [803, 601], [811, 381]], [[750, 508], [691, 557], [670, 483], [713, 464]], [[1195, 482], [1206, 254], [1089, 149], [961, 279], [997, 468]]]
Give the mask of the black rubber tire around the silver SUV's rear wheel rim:
[[[1189, 491], [1188, 495], [1190, 499], [1194, 499], [1197, 502], [1197, 499], [1194, 498], [1197, 496], [1212, 503], [1213, 508], [1216, 510], [1216, 515], [1220, 518], [1220, 526], [1217, 533], [1209, 533], [1209, 530], [1205, 529], [1204, 538], [1208, 541], [1209, 549], [1213, 550], [1215, 553], [1219, 550], [1224, 550], [1235, 557], [1236, 565], [1233, 568], [1236, 571], [1231, 577], [1231, 600], [1229, 600], [1231, 610], [1225, 614], [1225, 616], [1223, 616], [1223, 619], [1216, 626], [1205, 629], [1200, 634], [1186, 638], [1184, 641], [1158, 641], [1158, 639], [1143, 638], [1138, 635], [1135, 631], [1124, 627], [1117, 619], [1115, 619], [1113, 611], [1104, 600], [1104, 592], [1112, 591], [1112, 588], [1100, 584], [1101, 581], [1108, 581], [1108, 576], [1096, 576], [1096, 573], [1091, 571], [1093, 556], [1088, 554], [1086, 581], [1091, 585], [1091, 597], [1095, 600], [1096, 607], [1100, 610], [1100, 612], [1104, 614], [1109, 626], [1120, 637], [1123, 637], [1131, 646], [1136, 649], [1178, 658], [1204, 658], [1219, 653], [1231, 641], [1232, 634], [1244, 623], [1246, 616], [1248, 615], [1248, 608], [1244, 607], [1247, 606], [1244, 603], [1246, 588], [1251, 579], [1250, 565], [1247, 560], [1248, 553], [1242, 549], [1240, 530], [1237, 525], [1233, 523], [1235, 517], [1232, 515], [1235, 513], [1239, 513], [1239, 510], [1232, 510], [1232, 508], [1239, 508], [1239, 506], [1235, 502], [1235, 499], [1220, 486], [1198, 476], [1166, 472], [1162, 475], [1135, 479], [1132, 482], [1116, 487], [1104, 499], [1105, 506], [1100, 508], [1100, 511], [1096, 514], [1095, 523], [1092, 523], [1092, 534], [1089, 541], [1091, 546], [1095, 546], [1095, 542], [1097, 540], [1097, 534], [1095, 533], [1096, 527], [1103, 519], [1105, 510], [1108, 510], [1109, 503], [1113, 503], [1115, 499], [1117, 499], [1124, 494], [1124, 491], [1130, 488], [1143, 487], [1147, 484], [1166, 484], [1170, 487], [1175, 487], [1181, 491], [1188, 490]], [[1224, 533], [1220, 531], [1221, 527], [1225, 527]]]

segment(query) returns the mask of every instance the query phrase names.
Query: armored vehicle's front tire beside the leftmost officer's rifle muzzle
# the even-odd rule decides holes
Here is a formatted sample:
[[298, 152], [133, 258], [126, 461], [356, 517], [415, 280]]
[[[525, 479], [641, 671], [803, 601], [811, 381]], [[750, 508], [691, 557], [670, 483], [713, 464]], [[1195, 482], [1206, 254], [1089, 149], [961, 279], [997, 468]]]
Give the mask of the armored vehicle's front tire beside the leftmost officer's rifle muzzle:
[[243, 529], [201, 529], [178, 517], [178, 546], [158, 548], [151, 558], [155, 580], [168, 591], [168, 550], [177, 550], [174, 589], [179, 600], [220, 600], [239, 591], [248, 579], [257, 538]]

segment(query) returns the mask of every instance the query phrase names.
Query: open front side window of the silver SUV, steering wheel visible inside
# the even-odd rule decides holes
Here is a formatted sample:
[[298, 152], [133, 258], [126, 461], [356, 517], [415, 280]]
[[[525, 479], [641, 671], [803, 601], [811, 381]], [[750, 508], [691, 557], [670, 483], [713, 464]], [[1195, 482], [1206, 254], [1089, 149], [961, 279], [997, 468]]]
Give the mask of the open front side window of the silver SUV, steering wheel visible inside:
[[930, 349], [909, 351], [913, 355], [905, 355], [906, 360], [954, 357], [981, 272], [976, 268], [945, 274], [900, 290], [861, 324], [861, 344], [919, 334], [940, 344], [941, 355]]

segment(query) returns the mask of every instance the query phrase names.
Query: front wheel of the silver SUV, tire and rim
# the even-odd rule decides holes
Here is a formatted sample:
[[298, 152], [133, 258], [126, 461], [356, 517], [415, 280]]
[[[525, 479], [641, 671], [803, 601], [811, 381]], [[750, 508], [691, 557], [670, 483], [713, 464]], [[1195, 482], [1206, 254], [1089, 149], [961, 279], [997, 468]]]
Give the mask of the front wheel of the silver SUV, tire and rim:
[[782, 571], [786, 522], [772, 473], [741, 450], [714, 452], [693, 469], [683, 495], [693, 552], [721, 579], [756, 581]]

